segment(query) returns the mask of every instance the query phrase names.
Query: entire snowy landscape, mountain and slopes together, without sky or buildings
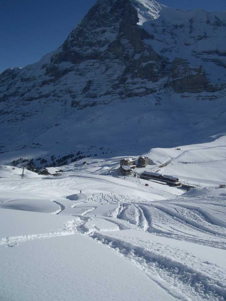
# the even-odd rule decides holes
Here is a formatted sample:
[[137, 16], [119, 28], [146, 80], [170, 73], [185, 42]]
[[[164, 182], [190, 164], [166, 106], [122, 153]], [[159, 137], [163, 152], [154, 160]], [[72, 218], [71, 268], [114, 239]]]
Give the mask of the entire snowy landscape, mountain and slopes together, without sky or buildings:
[[[0, 75], [1, 300], [226, 299], [225, 22], [99, 0]], [[153, 164], [117, 175], [140, 155]], [[53, 162], [58, 177], [21, 179]]]

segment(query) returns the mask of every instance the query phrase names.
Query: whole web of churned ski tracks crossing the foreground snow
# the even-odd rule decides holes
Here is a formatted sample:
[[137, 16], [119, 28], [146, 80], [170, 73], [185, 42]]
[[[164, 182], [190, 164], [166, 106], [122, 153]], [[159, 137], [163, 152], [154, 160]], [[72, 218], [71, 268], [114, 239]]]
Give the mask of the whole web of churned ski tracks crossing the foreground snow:
[[[71, 183], [71, 185], [74, 184]], [[68, 199], [73, 201], [76, 197]], [[60, 203], [52, 200], [52, 202], [59, 206], [59, 209], [52, 214], [64, 214], [66, 206], [63, 201]], [[86, 206], [89, 202], [90, 206]], [[82, 234], [130, 260], [150, 279], [177, 299], [184, 301], [225, 300], [226, 279], [223, 268], [208, 261], [200, 261], [185, 250], [180, 250], [178, 253], [175, 247], [152, 240], [154, 234], [168, 239], [226, 249], [224, 221], [217, 221], [211, 215], [211, 211], [207, 210], [208, 206], [213, 205], [206, 203], [206, 207], [201, 207], [201, 205], [195, 207], [184, 200], [183, 203], [141, 202], [139, 196], [113, 193], [83, 194], [81, 199], [78, 198], [73, 205], [70, 205], [72, 208], [79, 208], [79, 205], [82, 205], [83, 211], [72, 214], [71, 219], [64, 222], [64, 229], [43, 234], [5, 237], [0, 239], [0, 245], [15, 247], [19, 242], [27, 240]], [[118, 206], [115, 209], [111, 207], [106, 211], [103, 210], [102, 215], [99, 214], [96, 217], [98, 208], [104, 208], [109, 204]], [[215, 206], [214, 209], [217, 209], [219, 213], [224, 212], [225, 208], [221, 210], [220, 204], [215, 205], [217, 207]], [[94, 217], [87, 216], [92, 211], [95, 212]], [[145, 240], [139, 238], [137, 234], [138, 236], [133, 239], [129, 237], [130, 232], [124, 235], [121, 230], [141, 231], [150, 237]]]

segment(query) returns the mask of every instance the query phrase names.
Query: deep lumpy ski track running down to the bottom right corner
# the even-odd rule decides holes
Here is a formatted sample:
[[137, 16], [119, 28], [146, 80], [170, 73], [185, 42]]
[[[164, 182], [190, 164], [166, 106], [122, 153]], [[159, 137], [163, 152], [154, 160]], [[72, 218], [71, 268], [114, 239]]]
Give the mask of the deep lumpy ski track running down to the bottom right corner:
[[[219, 277], [221, 270], [209, 262], [196, 262], [196, 268], [191, 267], [189, 261], [193, 262], [194, 258], [188, 252], [186, 253], [188, 264], [186, 264], [173, 259], [173, 256], [169, 257], [172, 250], [165, 255], [166, 247], [161, 244], [153, 244], [152, 248], [148, 249], [142, 246], [142, 241], [138, 241], [136, 244], [99, 232], [94, 233], [93, 238], [129, 259], [149, 278], [177, 299], [186, 301], [225, 300], [226, 279]], [[177, 251], [174, 250], [174, 252]], [[212, 277], [206, 273], [210, 268], [213, 271]], [[190, 298], [191, 296], [192, 298]]]

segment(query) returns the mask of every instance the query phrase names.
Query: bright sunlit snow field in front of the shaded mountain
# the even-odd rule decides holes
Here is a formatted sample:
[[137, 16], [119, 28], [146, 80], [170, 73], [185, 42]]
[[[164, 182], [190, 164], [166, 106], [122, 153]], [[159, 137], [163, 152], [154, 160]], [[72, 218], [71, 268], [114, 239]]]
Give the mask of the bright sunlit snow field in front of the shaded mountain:
[[226, 136], [177, 148], [135, 171], [187, 192], [115, 175], [119, 157], [59, 177], [0, 166], [0, 300], [225, 300]]

